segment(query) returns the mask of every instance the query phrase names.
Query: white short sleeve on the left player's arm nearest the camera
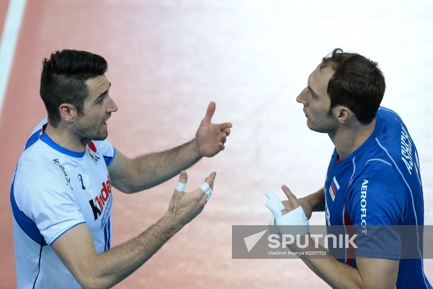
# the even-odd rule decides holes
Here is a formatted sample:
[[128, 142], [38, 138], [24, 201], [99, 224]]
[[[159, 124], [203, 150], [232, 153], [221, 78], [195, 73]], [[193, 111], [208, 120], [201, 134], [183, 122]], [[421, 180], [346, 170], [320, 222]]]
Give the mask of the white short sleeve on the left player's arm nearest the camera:
[[[20, 179], [25, 176], [21, 176]], [[58, 176], [26, 177], [16, 182], [15, 200], [20, 210], [36, 223], [50, 246], [63, 233], [84, 223], [71, 189]]]

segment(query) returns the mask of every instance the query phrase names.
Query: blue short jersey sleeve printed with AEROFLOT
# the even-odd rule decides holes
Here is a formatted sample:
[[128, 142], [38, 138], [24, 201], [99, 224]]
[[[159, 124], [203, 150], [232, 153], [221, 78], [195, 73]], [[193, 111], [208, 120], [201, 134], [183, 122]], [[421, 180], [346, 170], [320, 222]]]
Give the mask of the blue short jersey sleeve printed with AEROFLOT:
[[399, 225], [406, 214], [407, 195], [391, 165], [370, 161], [346, 198], [347, 214], [357, 234], [356, 256], [400, 259]]

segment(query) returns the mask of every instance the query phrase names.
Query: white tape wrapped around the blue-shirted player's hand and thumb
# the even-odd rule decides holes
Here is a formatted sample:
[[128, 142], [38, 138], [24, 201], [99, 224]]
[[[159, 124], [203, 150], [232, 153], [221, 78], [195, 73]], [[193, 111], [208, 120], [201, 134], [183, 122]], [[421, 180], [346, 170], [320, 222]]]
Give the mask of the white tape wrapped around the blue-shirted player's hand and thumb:
[[296, 235], [303, 236], [310, 232], [310, 223], [301, 206], [283, 215], [281, 210], [284, 210], [285, 207], [281, 200], [271, 190], [267, 190], [265, 196], [269, 199], [266, 202], [266, 207], [274, 215], [269, 225], [273, 225], [275, 220], [279, 233], [291, 234], [295, 239]]

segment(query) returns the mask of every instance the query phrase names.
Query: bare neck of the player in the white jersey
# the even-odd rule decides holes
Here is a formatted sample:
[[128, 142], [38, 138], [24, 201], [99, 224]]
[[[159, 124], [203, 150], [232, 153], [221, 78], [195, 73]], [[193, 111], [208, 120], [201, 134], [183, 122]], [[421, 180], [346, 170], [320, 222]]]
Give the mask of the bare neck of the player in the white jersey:
[[48, 123], [45, 128], [45, 133], [58, 145], [66, 148], [70, 151], [81, 152], [86, 149], [86, 145], [89, 143], [81, 142], [76, 136], [71, 133], [68, 128], [65, 128], [61, 124], [57, 128], [53, 127]]

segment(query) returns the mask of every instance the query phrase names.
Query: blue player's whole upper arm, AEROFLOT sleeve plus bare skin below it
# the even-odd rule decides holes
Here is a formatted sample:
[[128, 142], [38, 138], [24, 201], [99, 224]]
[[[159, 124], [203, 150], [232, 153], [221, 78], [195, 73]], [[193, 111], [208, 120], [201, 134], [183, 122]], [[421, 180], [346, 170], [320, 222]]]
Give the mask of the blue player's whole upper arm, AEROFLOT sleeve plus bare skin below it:
[[381, 161], [368, 165], [372, 167], [355, 179], [346, 199], [357, 234], [356, 267], [366, 288], [395, 288], [406, 192], [390, 165]]

